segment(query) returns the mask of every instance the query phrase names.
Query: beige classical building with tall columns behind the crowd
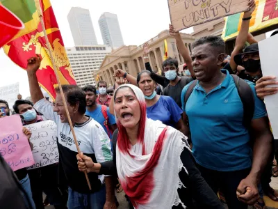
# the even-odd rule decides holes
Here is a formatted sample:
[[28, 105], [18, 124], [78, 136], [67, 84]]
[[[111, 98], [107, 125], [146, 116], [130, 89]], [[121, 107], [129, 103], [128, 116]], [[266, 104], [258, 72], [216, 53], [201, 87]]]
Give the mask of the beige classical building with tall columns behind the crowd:
[[[191, 44], [195, 38], [191, 35], [181, 33], [184, 44], [191, 52]], [[162, 31], [158, 36], [148, 41], [151, 52], [149, 53], [149, 61], [154, 72], [162, 70], [163, 55], [164, 55], [164, 40], [167, 40], [167, 54], [179, 61], [179, 64], [184, 63], [182, 56], [177, 49], [176, 40], [170, 36], [169, 31]], [[101, 67], [95, 72], [95, 79], [97, 77], [107, 82], [107, 84], [115, 84], [113, 74], [115, 70], [122, 69], [130, 75], [137, 77], [138, 73], [145, 70], [145, 63], [143, 60], [143, 44], [137, 46], [122, 46], [119, 49], [113, 50], [108, 54]]]

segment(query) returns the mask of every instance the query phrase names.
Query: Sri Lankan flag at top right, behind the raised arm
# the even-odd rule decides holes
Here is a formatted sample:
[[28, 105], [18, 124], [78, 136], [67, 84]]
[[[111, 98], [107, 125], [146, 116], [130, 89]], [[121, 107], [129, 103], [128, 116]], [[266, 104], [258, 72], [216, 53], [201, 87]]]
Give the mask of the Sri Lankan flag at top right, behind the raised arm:
[[[238, 36], [243, 13], [225, 17], [222, 38], [229, 40]], [[278, 24], [278, 0], [256, 0], [256, 9], [252, 14], [249, 31], [259, 31], [273, 24]]]

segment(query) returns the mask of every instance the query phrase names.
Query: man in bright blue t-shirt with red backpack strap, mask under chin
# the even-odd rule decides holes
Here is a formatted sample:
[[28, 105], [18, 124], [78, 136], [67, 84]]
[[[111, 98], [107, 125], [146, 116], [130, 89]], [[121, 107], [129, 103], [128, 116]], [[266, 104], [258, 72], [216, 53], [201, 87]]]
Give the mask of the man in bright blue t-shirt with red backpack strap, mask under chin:
[[96, 102], [97, 88], [95, 86], [85, 86], [82, 90], [86, 94], [87, 111], [85, 114], [97, 121], [104, 128], [108, 137], [112, 139], [112, 134], [117, 128], [115, 116], [109, 113], [109, 107], [102, 107], [101, 110], [102, 105]]

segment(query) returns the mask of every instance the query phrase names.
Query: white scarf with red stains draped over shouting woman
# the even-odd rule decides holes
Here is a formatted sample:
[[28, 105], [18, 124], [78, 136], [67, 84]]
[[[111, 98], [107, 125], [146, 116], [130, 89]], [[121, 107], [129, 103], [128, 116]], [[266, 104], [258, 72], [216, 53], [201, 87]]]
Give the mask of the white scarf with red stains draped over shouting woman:
[[124, 86], [133, 90], [141, 109], [136, 145], [131, 146], [125, 128], [117, 121], [117, 174], [124, 192], [136, 209], [169, 209], [180, 203], [186, 208], [177, 189], [183, 186], [179, 172], [186, 170], [180, 156], [183, 148], [190, 150], [187, 142], [181, 139], [187, 137], [161, 121], [148, 119], [140, 88], [129, 84]]

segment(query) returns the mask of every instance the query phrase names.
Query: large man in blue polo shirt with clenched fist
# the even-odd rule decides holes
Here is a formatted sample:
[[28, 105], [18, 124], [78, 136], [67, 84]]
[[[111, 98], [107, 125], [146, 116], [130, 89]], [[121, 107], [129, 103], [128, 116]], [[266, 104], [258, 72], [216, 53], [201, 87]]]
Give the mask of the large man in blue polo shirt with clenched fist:
[[[202, 176], [215, 193], [224, 193], [229, 209], [247, 208], [259, 199], [257, 183], [272, 149], [272, 134], [265, 105], [256, 97], [250, 130], [243, 125], [243, 103], [234, 79], [220, 70], [224, 41], [217, 36], [193, 43], [193, 70], [197, 84], [185, 104], [181, 102], [187, 133], [191, 133], [193, 155]], [[250, 134], [254, 141], [253, 155]]]

